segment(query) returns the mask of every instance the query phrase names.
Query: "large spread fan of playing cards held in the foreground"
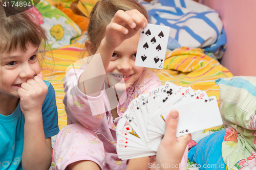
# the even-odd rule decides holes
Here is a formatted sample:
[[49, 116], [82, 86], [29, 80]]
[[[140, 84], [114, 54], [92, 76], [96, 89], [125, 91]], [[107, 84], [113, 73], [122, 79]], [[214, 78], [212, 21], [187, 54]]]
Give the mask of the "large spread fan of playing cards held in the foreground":
[[134, 99], [119, 120], [118, 157], [156, 155], [165, 133], [165, 118], [173, 109], [179, 111], [177, 137], [223, 124], [216, 96], [166, 82]]

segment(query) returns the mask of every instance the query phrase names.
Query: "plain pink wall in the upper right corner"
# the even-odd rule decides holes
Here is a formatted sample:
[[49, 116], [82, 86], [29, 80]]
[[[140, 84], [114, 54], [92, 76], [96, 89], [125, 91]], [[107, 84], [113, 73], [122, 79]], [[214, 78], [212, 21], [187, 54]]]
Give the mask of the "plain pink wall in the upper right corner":
[[234, 76], [256, 76], [256, 1], [201, 0], [215, 9], [227, 34], [227, 49], [221, 64]]

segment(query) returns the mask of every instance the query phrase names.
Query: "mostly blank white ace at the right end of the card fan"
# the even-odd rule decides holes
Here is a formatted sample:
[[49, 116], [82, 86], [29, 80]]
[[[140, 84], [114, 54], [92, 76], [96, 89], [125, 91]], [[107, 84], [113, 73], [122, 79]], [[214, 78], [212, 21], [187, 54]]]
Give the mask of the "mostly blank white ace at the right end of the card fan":
[[178, 110], [177, 137], [223, 124], [216, 96], [210, 96], [207, 101], [186, 103], [185, 106], [174, 105], [163, 113], [167, 116], [170, 110]]

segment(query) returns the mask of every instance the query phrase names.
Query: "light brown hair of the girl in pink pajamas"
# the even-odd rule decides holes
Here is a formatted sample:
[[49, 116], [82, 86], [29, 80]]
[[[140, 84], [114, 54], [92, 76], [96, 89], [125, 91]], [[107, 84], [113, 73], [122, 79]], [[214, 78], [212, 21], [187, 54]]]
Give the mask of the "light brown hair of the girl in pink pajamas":
[[[101, 0], [96, 3], [90, 14], [87, 31], [87, 39], [92, 42], [93, 54], [96, 53], [105, 35], [106, 26], [109, 25], [115, 13], [118, 10], [129, 11], [132, 9], [137, 9], [150, 22], [146, 9], [135, 0]], [[145, 68], [140, 79], [133, 86], [139, 84], [148, 75], [149, 71], [150, 69]]]

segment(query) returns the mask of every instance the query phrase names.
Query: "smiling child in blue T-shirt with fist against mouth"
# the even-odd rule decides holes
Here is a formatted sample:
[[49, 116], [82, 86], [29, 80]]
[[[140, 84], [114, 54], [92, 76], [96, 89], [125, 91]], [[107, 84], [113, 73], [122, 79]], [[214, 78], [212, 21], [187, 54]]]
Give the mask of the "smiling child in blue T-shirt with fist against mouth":
[[55, 92], [37, 56], [46, 37], [26, 12], [14, 12], [0, 2], [0, 169], [49, 169], [59, 129]]

